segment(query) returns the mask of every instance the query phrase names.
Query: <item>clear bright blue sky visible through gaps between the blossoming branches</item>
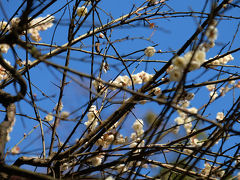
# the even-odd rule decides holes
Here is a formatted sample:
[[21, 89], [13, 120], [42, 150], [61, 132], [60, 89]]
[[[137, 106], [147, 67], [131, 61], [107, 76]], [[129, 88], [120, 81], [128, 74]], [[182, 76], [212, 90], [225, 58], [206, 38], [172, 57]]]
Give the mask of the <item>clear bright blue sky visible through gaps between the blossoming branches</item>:
[[[134, 4], [142, 4], [144, 1], [129, 1], [129, 0], [102, 0], [102, 2], [99, 3], [99, 6], [105, 9], [107, 12], [111, 12], [111, 15], [114, 18], [118, 18], [121, 15], [124, 15], [128, 13], [132, 6]], [[179, 1], [179, 0], [170, 0], [167, 1], [167, 5], [171, 7], [174, 11], [176, 12], [185, 12], [185, 11], [196, 11], [200, 12], [203, 8], [204, 5], [203, 0], [185, 0], [185, 1]], [[57, 1], [52, 7], [47, 9], [42, 16], [45, 16], [47, 14], [51, 14], [58, 10], [66, 1]], [[18, 8], [20, 1], [5, 1], [5, 3], [2, 3], [3, 6], [5, 7], [5, 11], [8, 15], [8, 18], [12, 16], [12, 14], [15, 12], [15, 10]], [[207, 9], [210, 9], [209, 4], [207, 6]], [[163, 8], [161, 11], [169, 11], [170, 9]], [[231, 10], [231, 12], [226, 12], [225, 15], [232, 15], [232, 16], [239, 16], [238, 15], [238, 10]], [[209, 10], [207, 11], [209, 12]], [[60, 16], [62, 15], [63, 10], [54, 15], [56, 17], [56, 22], [59, 20]], [[102, 13], [100, 13], [103, 15]], [[105, 18], [104, 18], [105, 17]], [[5, 19], [3, 16], [3, 13], [0, 11], [0, 19]], [[106, 16], [103, 16], [103, 23], [105, 24], [109, 20], [109, 18], [106, 18]], [[56, 34], [54, 37], [54, 44], [56, 43], [57, 45], [62, 45], [67, 42], [67, 24], [69, 23], [69, 12], [66, 10], [66, 13], [63, 16], [63, 22], [65, 25], [60, 24], [59, 27], [56, 30]], [[91, 22], [91, 16], [89, 16], [89, 20], [87, 22]], [[128, 54], [132, 51], [136, 51], [139, 49], [144, 49], [147, 46], [151, 46], [154, 44], [158, 44], [156, 46], [157, 50], [162, 50], [162, 51], [169, 51], [169, 50], [177, 50], [181, 48], [183, 43], [188, 40], [188, 38], [191, 37], [191, 35], [195, 32], [198, 23], [199, 23], [199, 18], [194, 18], [194, 17], [177, 17], [177, 18], [171, 18], [171, 19], [158, 19], [153, 21], [158, 25], [159, 29], [157, 29], [151, 40], [154, 41], [154, 43], [146, 42], [143, 40], [137, 40], [137, 41], [128, 41], [128, 42], [120, 42], [116, 43], [115, 46], [119, 50], [121, 55]], [[216, 46], [211, 49], [207, 53], [207, 58], [214, 57], [217, 55], [222, 46], [225, 45], [226, 43], [230, 42], [233, 38], [234, 32], [237, 29], [238, 21], [237, 20], [221, 20], [219, 21], [218, 25], [218, 30], [219, 30], [219, 37], [216, 41]], [[55, 26], [54, 26], [55, 27]], [[41, 32], [41, 37], [42, 41], [44, 43], [50, 43], [52, 34], [54, 31], [54, 27], [51, 29], [48, 29], [44, 32]], [[89, 27], [81, 28], [78, 35], [81, 33], [87, 32]], [[153, 33], [152, 29], [149, 29], [147, 27], [136, 27], [136, 28], [119, 28], [116, 29], [112, 32], [112, 40], [116, 39], [121, 39], [126, 36], [130, 37], [142, 37], [144, 36], [145, 38], [148, 38], [151, 34]], [[84, 40], [83, 43], [86, 45], [90, 45], [91, 38], [89, 40]], [[75, 47], [79, 47], [80, 43], [76, 44]], [[228, 47], [223, 50], [223, 52], [227, 52]], [[231, 49], [235, 49], [239, 47], [239, 34], [237, 34], [237, 37], [232, 45]], [[16, 47], [17, 50], [18, 47]], [[86, 48], [87, 50], [91, 50], [91, 47]], [[189, 50], [189, 49], [188, 49]], [[42, 52], [47, 52], [47, 51], [42, 51]], [[112, 50], [109, 51], [110, 54], [114, 54]], [[24, 52], [20, 52], [22, 57], [25, 57]], [[62, 53], [60, 56], [64, 56], [65, 53]], [[114, 54], [115, 55], [115, 54]], [[143, 51], [136, 54], [134, 57], [140, 57], [143, 55]], [[9, 52], [7, 55], [4, 55], [5, 58], [11, 63], [14, 63], [14, 60], [11, 56], [11, 52]], [[239, 66], [239, 61], [238, 61], [238, 56], [239, 53], [233, 54], [233, 57], [235, 58], [234, 61], [230, 62], [229, 64], [237, 65]], [[77, 58], [81, 60], [84, 58], [88, 63], [80, 62], [79, 60], [75, 61], [70, 61], [70, 67], [72, 67], [75, 70], [78, 70], [80, 72], [84, 73], [90, 73], [90, 56], [80, 53], [80, 52], [73, 52], [72, 57]], [[150, 59], [157, 59], [157, 60], [169, 60], [172, 57], [172, 54], [166, 53], [166, 54], [156, 54], [155, 56], [151, 57]], [[33, 60], [33, 59], [31, 59]], [[61, 65], [64, 64], [64, 58], [52, 58], [51, 59], [54, 62], [57, 62]], [[101, 63], [102, 59], [97, 58], [97, 62]], [[116, 64], [116, 61], [113, 59], [108, 59], [107, 60], [110, 65]], [[119, 64], [119, 62], [117, 62]], [[148, 73], [154, 73], [154, 69], [159, 70], [162, 67], [163, 64], [161, 63], [152, 63], [148, 65], [147, 72]], [[122, 66], [120, 66], [122, 67]], [[136, 65], [130, 67], [130, 72], [136, 67]], [[95, 65], [94, 69], [97, 70], [99, 68], [99, 65]], [[49, 71], [51, 69], [53, 73]], [[145, 63], [141, 63], [140, 66], [137, 68], [135, 72], [140, 72], [145, 69]], [[227, 70], [227, 68], [225, 69]], [[233, 70], [233, 69], [232, 69]], [[231, 70], [231, 71], [232, 71]], [[203, 72], [204, 69], [197, 70], [196, 72], [191, 72], [189, 75], [189, 79], [195, 80], [195, 82], [201, 82], [204, 81], [205, 79], [209, 79], [209, 77], [213, 76], [211, 72], [207, 73], [200, 79], [196, 79], [198, 77], [200, 72]], [[235, 72], [238, 72], [238, 69], [234, 69]], [[234, 73], [234, 72], [233, 72]], [[45, 111], [51, 111], [55, 103], [57, 102], [58, 99], [58, 94], [59, 94], [59, 89], [56, 87], [54, 84], [59, 85], [60, 84], [60, 79], [62, 78], [61, 75], [53, 70], [53, 68], [49, 68], [44, 64], [40, 64], [38, 67], [35, 67], [31, 69], [30, 71], [31, 74], [31, 80], [33, 84], [35, 84], [37, 87], [39, 87], [45, 94], [51, 96], [51, 95], [56, 95], [56, 97], [53, 98], [54, 102], [51, 102], [49, 100], [43, 100], [37, 102], [37, 105], [43, 108]], [[110, 80], [113, 77], [115, 77], [117, 74], [116, 70], [114, 68], [110, 69], [110, 71], [103, 75], [104, 80]], [[122, 73], [122, 75], [126, 75], [126, 71]], [[57, 78], [56, 78], [57, 77]], [[80, 79], [79, 79], [80, 80]], [[69, 79], [68, 79], [69, 81]], [[87, 79], [81, 79], [81, 83], [88, 85], [89, 80]], [[36, 88], [33, 88], [34, 93], [37, 94], [38, 98], [43, 97], [41, 95], [41, 92], [39, 92]], [[238, 91], [238, 90], [237, 90]], [[235, 92], [236, 95], [239, 95], [239, 92]], [[66, 86], [66, 91], [64, 93], [63, 97], [63, 104], [64, 104], [64, 110], [72, 112], [76, 108], [80, 107], [84, 103], [88, 101], [88, 91], [84, 90], [83, 88], [79, 87], [75, 83], [70, 83], [70, 85]], [[207, 102], [209, 99], [208, 96], [208, 91], [207, 89], [202, 89], [198, 92], [196, 95], [195, 99], [191, 102], [191, 106], [199, 108], [201, 107], [204, 103]], [[232, 93], [229, 93], [229, 95], [226, 95], [224, 98], [221, 98], [221, 100], [218, 100], [215, 102], [213, 108], [209, 108], [205, 114], [209, 114], [209, 117], [215, 118], [216, 112], [222, 111], [225, 109], [227, 106], [231, 106], [232, 104]], [[21, 102], [19, 104], [21, 111], [23, 114], [29, 115], [29, 116], [34, 116], [33, 109], [30, 108], [31, 106], [25, 102]], [[114, 110], [116, 107], [111, 107], [111, 110]], [[77, 113], [73, 114], [71, 118], [75, 118], [83, 112], [84, 109], [81, 109]], [[159, 112], [159, 106], [157, 106], [155, 103], [150, 103], [149, 105], [144, 106], [144, 109], [141, 106], [136, 106], [134, 112], [137, 114], [138, 118], [143, 118], [148, 111], [153, 111], [155, 113]], [[20, 111], [18, 111], [20, 113]], [[108, 117], [110, 111], [103, 111], [102, 118]], [[41, 112], [41, 117], [44, 118], [46, 113]], [[4, 113], [1, 113], [0, 117], [4, 117]], [[130, 116], [129, 118], [130, 123], [126, 124], [125, 128], [129, 128], [131, 126], [132, 122], [135, 120], [133, 116]], [[172, 120], [172, 123], [173, 120]], [[23, 133], [28, 133], [33, 126], [37, 125], [38, 122], [32, 121], [30, 119], [26, 119], [24, 117], [17, 116], [17, 121], [16, 125], [14, 127], [13, 132], [11, 133], [11, 141], [7, 144], [7, 148], [13, 147], [22, 137]], [[127, 126], [128, 125], [128, 126]], [[60, 139], [64, 140], [66, 138], [66, 135], [72, 130], [73, 124], [69, 122], [62, 122], [60, 126], [58, 127], [58, 132], [60, 135]], [[47, 130], [47, 128], [45, 128]], [[81, 135], [80, 132], [82, 132], [83, 126], [79, 128], [79, 134], [78, 136]], [[126, 129], [129, 131], [128, 129]], [[132, 130], [130, 130], [132, 131]], [[130, 134], [129, 132], [124, 132], [126, 134]], [[48, 134], [46, 132], [46, 136], [50, 137], [50, 133]], [[75, 138], [78, 138], [77, 134], [74, 136], [71, 140], [71, 142], [74, 141]], [[47, 138], [46, 138], [47, 139]], [[234, 141], [232, 142], [234, 143]], [[49, 145], [49, 141], [47, 140], [47, 145]], [[231, 146], [232, 144], [229, 144]], [[31, 136], [29, 136], [23, 143], [21, 143], [20, 148], [22, 151], [31, 151], [33, 149], [38, 149], [41, 148], [41, 138], [40, 138], [40, 129], [37, 128]], [[34, 152], [33, 152], [34, 154]], [[7, 160], [10, 162], [14, 161], [17, 157], [19, 156], [8, 156]]]

